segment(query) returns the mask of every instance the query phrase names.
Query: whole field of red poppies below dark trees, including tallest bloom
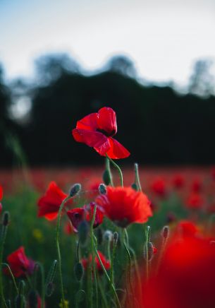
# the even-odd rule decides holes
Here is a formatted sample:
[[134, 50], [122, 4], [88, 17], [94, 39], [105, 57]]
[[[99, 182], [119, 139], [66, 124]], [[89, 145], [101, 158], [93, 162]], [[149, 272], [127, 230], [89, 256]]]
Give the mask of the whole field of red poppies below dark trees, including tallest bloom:
[[113, 109], [83, 116], [102, 167], [0, 172], [1, 307], [215, 307], [215, 168], [124, 165]]

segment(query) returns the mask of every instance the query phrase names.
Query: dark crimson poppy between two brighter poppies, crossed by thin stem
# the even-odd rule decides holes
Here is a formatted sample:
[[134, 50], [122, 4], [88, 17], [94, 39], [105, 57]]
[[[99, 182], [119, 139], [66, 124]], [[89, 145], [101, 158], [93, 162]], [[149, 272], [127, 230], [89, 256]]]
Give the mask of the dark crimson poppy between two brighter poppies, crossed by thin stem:
[[[95, 203], [91, 202], [89, 205], [85, 205], [82, 208], [73, 208], [70, 211], [67, 211], [68, 218], [73, 224], [75, 232], [78, 232], [78, 225], [82, 220], [91, 221], [94, 213]], [[98, 227], [103, 221], [103, 213], [97, 208], [94, 225], [93, 227]]]

